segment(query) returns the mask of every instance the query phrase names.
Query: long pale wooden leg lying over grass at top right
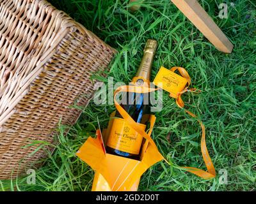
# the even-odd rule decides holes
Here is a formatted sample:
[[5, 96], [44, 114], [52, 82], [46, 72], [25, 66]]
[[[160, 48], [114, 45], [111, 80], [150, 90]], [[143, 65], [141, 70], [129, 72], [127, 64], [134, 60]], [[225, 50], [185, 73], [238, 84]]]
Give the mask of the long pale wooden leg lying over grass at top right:
[[177, 8], [211, 41], [221, 52], [231, 53], [232, 43], [196, 0], [171, 0]]

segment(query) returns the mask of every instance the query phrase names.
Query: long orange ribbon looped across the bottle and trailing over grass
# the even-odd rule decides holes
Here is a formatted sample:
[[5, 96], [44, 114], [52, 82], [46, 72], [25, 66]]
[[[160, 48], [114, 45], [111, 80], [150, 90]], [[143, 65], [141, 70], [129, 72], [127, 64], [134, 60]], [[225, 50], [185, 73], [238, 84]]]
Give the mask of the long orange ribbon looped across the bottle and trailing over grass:
[[[193, 91], [195, 92], [196, 89], [188, 89], [189, 85], [191, 84], [191, 78], [189, 77], [188, 72], [186, 71], [186, 69], [184, 68], [172, 68], [171, 71], [175, 71], [177, 70], [180, 72], [180, 75], [182, 75], [182, 77], [186, 78], [188, 80], [188, 86], [185, 87], [184, 91], [179, 93], [179, 96], [175, 97], [176, 98], [176, 103], [180, 108], [184, 107], [184, 102], [181, 99], [181, 95], [184, 92], [188, 92], [188, 91]], [[122, 106], [120, 106], [118, 104], [118, 102], [116, 101], [116, 95], [120, 92], [135, 92], [135, 93], [139, 93], [139, 94], [143, 94], [143, 93], [148, 93], [148, 92], [154, 92], [157, 91], [157, 89], [152, 89], [149, 87], [137, 87], [134, 85], [124, 85], [124, 86], [120, 86], [118, 87], [118, 89], [116, 89], [115, 93], [114, 93], [114, 101], [115, 101], [115, 106], [116, 106], [116, 110], [118, 110], [118, 112], [120, 113], [120, 115], [122, 115], [122, 117], [126, 120], [127, 124], [129, 124], [135, 131], [137, 131], [141, 136], [143, 136], [143, 138], [145, 138], [146, 140], [148, 140], [148, 142], [156, 149], [157, 154], [159, 154], [159, 156], [163, 157], [161, 155], [161, 153], [159, 152], [159, 150], [157, 149], [156, 143], [154, 143], [154, 140], [152, 140], [152, 138], [150, 136], [148, 136], [148, 134], [144, 131], [143, 128], [141, 128], [141, 126], [138, 125], [137, 122], [135, 122], [132, 117], [129, 115], [129, 113], [127, 113], [124, 108], [122, 108]], [[185, 110], [186, 113], [188, 113], [189, 115], [191, 115], [192, 117], [196, 117], [195, 114], [189, 112], [188, 110]], [[206, 143], [205, 143], [205, 126], [202, 123], [201, 120], [197, 119], [198, 122], [200, 122], [200, 126], [202, 128], [202, 139], [201, 139], [201, 150], [202, 150], [202, 156], [204, 158], [204, 162], [205, 162], [205, 166], [207, 167], [207, 171], [204, 170], [200, 170], [198, 168], [194, 168], [194, 167], [182, 167], [185, 170], [194, 173], [195, 175], [198, 175], [198, 177], [201, 177], [202, 179], [212, 179], [216, 176], [215, 173], [215, 169], [214, 166], [212, 164], [211, 161], [211, 157], [209, 156], [207, 147], [206, 147]], [[170, 164], [164, 157], [163, 157], [164, 161], [166, 161], [166, 163]]]

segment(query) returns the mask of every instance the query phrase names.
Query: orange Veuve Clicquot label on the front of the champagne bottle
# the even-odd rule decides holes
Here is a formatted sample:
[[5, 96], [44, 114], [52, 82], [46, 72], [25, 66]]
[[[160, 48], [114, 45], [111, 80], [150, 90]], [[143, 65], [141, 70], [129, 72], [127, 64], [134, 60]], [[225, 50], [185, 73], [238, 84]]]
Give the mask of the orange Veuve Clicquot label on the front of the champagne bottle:
[[[145, 124], [139, 124], [146, 129]], [[130, 154], [140, 154], [143, 136], [129, 126], [124, 119], [113, 119], [107, 146]]]

